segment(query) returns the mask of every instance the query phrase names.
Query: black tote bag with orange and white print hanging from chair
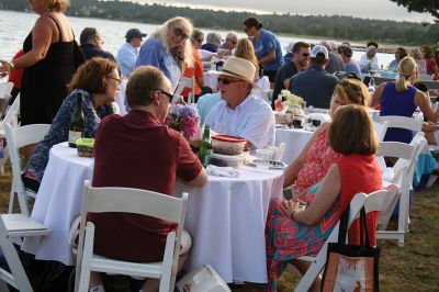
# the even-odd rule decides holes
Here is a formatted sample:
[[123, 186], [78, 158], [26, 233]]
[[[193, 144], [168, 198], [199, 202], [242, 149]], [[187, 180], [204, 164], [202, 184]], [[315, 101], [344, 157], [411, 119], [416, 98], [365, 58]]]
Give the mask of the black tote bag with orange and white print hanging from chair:
[[360, 246], [347, 245], [349, 204], [341, 215], [338, 243], [328, 244], [322, 291], [379, 291], [380, 249], [369, 245], [364, 207], [360, 212]]

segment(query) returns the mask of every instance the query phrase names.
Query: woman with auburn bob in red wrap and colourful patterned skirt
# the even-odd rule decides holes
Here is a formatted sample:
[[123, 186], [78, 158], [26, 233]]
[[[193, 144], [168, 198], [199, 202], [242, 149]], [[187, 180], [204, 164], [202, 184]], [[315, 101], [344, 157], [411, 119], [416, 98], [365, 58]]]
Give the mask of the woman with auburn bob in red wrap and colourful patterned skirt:
[[[329, 146], [340, 154], [319, 184], [305, 196], [306, 206], [299, 200], [272, 200], [267, 227], [267, 271], [269, 291], [275, 291], [277, 279], [291, 262], [302, 273], [308, 262], [301, 256], [315, 256], [329, 237], [342, 212], [359, 192], [370, 193], [382, 188], [382, 177], [375, 161], [379, 144], [367, 108], [341, 106], [329, 126]], [[367, 215], [370, 244], [375, 242], [378, 218]], [[350, 244], [359, 244], [359, 228], [349, 232]], [[313, 291], [319, 291], [317, 280]]]

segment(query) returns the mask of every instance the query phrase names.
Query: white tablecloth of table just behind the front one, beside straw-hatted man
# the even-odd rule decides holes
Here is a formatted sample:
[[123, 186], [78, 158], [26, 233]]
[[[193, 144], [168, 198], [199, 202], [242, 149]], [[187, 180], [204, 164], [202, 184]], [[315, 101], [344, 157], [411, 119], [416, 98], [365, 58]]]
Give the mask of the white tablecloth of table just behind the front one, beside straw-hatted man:
[[277, 128], [275, 146], [285, 143], [285, 154], [283, 155], [282, 161], [291, 165], [301, 154], [312, 135], [313, 132], [302, 128]]

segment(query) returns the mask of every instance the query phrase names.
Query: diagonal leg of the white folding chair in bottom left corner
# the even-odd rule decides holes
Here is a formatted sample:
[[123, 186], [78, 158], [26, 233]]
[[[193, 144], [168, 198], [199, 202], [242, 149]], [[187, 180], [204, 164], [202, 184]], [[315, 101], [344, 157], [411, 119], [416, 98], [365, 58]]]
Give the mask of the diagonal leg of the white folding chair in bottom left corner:
[[15, 247], [13, 246], [10, 238], [4, 234], [0, 236], [0, 247], [4, 254], [4, 258], [11, 269], [11, 274], [16, 282], [16, 287], [21, 292], [32, 292], [32, 285], [29, 282], [26, 272], [24, 271], [23, 265], [21, 263], [20, 257], [16, 254]]

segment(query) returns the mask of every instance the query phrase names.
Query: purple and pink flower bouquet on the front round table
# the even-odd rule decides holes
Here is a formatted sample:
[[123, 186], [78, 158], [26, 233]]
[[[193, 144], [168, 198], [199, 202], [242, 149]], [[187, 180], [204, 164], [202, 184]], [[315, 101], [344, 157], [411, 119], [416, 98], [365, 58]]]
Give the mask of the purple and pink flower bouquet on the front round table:
[[198, 132], [200, 122], [196, 109], [191, 105], [172, 104], [165, 123], [173, 130], [191, 138]]

